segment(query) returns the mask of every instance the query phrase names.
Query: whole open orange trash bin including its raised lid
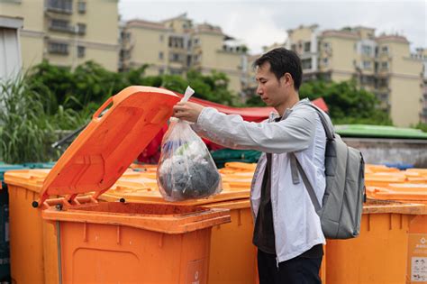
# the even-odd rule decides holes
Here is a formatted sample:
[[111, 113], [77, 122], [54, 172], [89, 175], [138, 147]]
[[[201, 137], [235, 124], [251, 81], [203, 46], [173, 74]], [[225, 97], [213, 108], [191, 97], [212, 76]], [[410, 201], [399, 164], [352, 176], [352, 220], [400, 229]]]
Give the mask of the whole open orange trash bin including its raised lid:
[[[177, 96], [163, 89], [123, 92], [128, 89], [129, 96], [113, 97], [98, 109], [33, 203], [57, 232], [59, 282], [206, 283], [211, 229], [230, 222], [228, 210], [96, 200], [123, 175], [177, 103]], [[89, 192], [94, 194], [78, 196]], [[65, 197], [49, 198], [54, 195]]]

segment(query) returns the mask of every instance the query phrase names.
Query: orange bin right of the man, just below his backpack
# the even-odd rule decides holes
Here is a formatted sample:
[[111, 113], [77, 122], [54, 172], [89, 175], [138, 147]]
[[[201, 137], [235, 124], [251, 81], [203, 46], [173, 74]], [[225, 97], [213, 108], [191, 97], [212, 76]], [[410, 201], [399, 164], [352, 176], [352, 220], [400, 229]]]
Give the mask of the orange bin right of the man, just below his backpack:
[[327, 240], [327, 283], [404, 283], [409, 226], [421, 205], [368, 201], [355, 239]]

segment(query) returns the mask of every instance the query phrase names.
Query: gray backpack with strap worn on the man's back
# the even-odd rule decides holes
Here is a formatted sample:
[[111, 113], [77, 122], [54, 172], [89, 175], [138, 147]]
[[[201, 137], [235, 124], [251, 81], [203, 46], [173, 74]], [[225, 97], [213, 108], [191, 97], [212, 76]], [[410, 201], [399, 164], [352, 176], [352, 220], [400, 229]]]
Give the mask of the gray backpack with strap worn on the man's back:
[[326, 238], [354, 238], [359, 235], [362, 206], [366, 200], [363, 156], [360, 151], [342, 142], [340, 135], [333, 131], [331, 119], [323, 110], [312, 104], [307, 105], [312, 106], [319, 114], [327, 139], [324, 160], [326, 189], [322, 206], [304, 169], [292, 153], [290, 159], [294, 184], [299, 183], [299, 172], [320, 216]]

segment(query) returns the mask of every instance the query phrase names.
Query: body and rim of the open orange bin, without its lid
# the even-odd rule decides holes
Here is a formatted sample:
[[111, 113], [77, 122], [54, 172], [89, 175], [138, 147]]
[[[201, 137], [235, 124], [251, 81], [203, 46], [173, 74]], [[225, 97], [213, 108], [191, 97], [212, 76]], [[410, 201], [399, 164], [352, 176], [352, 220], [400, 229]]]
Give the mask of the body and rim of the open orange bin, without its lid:
[[42, 213], [59, 230], [63, 283], [206, 283], [211, 228], [230, 220], [195, 206], [77, 207]]

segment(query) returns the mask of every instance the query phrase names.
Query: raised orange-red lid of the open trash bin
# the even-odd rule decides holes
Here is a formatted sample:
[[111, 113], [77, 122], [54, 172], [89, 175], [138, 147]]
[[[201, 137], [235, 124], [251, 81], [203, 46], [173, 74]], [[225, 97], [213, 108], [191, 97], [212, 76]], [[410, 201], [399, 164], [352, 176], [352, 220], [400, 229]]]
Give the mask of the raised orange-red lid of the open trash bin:
[[159, 133], [178, 101], [158, 87], [126, 87], [111, 96], [50, 170], [39, 204], [50, 196], [101, 195]]

